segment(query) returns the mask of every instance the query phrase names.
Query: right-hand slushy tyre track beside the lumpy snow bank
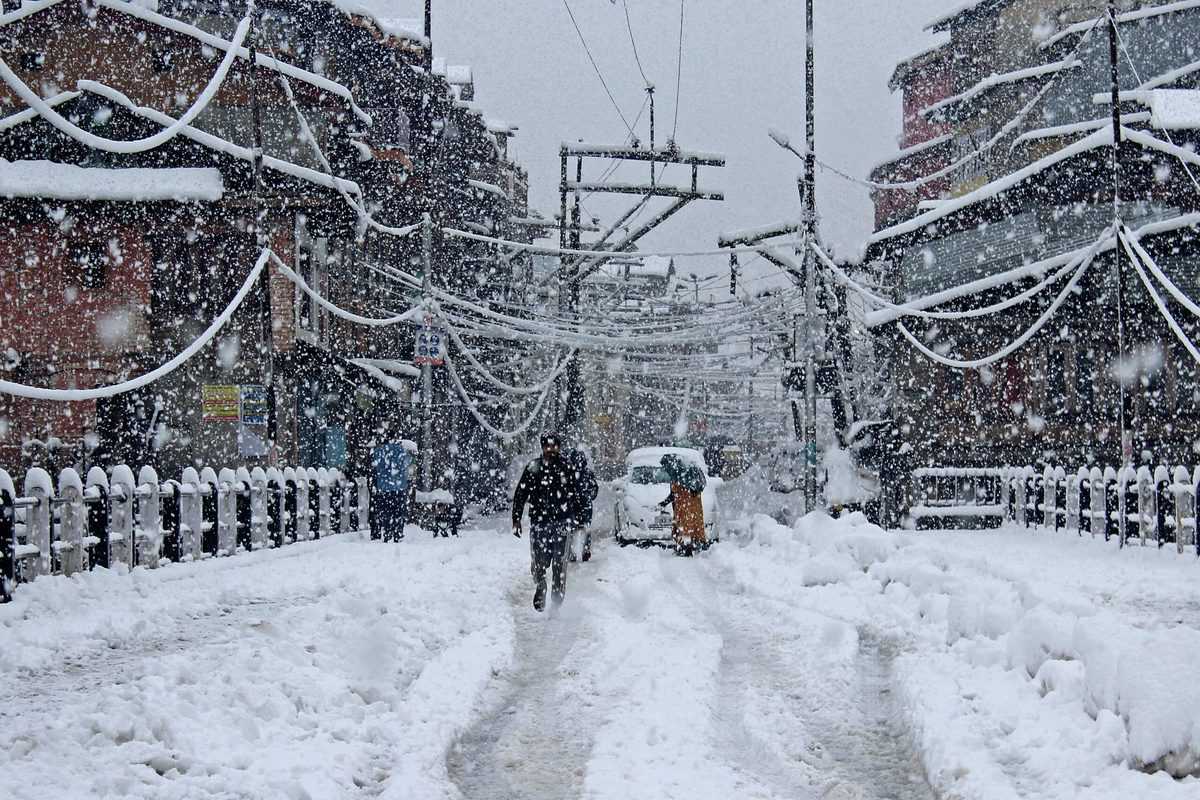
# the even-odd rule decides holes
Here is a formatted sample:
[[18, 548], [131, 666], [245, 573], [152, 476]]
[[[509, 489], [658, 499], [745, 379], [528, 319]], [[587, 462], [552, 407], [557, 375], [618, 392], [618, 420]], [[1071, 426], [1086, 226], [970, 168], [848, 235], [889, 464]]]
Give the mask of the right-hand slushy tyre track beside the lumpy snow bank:
[[[811, 630], [824, 615], [762, 593], [727, 591], [710, 563], [698, 575], [707, 584], [701, 596], [720, 596], [708, 604], [724, 609], [713, 613], [726, 642], [720, 729], [740, 769], [782, 796], [796, 796], [804, 783], [823, 800], [936, 800], [895, 705], [896, 643], [857, 631], [852, 674], [822, 681], [814, 660], [802, 654], [836, 649], [844, 622], [826, 618], [820, 637], [788, 638], [785, 631]], [[793, 624], [781, 624], [788, 616]], [[750, 724], [748, 711], [764, 718]], [[770, 729], [780, 735], [769, 736]]]

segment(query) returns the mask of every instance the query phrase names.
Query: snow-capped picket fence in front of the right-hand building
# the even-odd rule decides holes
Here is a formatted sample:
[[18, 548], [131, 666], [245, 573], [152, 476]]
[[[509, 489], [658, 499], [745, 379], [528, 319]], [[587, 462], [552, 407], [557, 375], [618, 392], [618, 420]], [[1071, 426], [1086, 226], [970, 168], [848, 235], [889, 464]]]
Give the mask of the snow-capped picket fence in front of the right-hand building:
[[1121, 547], [1175, 545], [1195, 549], [1200, 467], [1001, 467], [918, 469], [908, 511], [923, 521], [983, 518], [1026, 528], [1090, 534]]

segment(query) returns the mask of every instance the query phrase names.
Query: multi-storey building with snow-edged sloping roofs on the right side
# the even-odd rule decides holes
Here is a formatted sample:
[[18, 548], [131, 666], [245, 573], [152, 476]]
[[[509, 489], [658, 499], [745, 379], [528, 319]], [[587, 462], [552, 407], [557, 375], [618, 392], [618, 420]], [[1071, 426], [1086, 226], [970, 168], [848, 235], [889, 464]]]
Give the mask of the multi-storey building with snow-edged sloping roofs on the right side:
[[[910, 190], [907, 205], [893, 193], [877, 194], [880, 227], [869, 257], [882, 267], [894, 300], [913, 309], [971, 311], [1016, 295], [1028, 300], [958, 320], [914, 319], [894, 309], [868, 315], [890, 348], [895, 421], [918, 461], [1117, 464], [1122, 380], [1132, 397], [1136, 462], [1190, 458], [1200, 440], [1195, 362], [1129, 261], [1118, 293], [1114, 248], [1091, 252], [1114, 218], [1109, 41], [1098, 17], [1105, 7], [991, 0], [931, 26], [949, 32], [937, 52], [952, 65], [953, 91], [917, 118], [948, 137], [944, 155], [925, 166], [925, 175], [944, 180], [936, 184], [937, 197], [919, 193], [932, 182]], [[1200, 190], [1189, 162], [1200, 115], [1187, 109], [1194, 108], [1196, 96], [1188, 90], [1200, 73], [1192, 53], [1200, 8], [1178, 2], [1122, 8], [1120, 213], [1158, 265], [1198, 297], [1190, 215], [1200, 207]], [[907, 126], [916, 122], [906, 118]], [[1075, 273], [1072, 265], [1085, 261], [1091, 266], [1064, 289]], [[1118, 294], [1128, 329], [1123, 353]], [[1168, 303], [1194, 339], [1195, 319]], [[983, 359], [1044, 317], [1048, 321], [1008, 357]], [[960, 366], [918, 353], [901, 324]]]

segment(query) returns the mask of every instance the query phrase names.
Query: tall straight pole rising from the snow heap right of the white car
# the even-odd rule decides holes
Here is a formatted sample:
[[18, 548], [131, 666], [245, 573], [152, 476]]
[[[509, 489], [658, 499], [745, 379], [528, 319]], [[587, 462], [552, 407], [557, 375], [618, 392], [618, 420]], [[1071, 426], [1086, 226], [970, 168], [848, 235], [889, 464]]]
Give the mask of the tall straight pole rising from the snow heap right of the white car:
[[806, 342], [804, 367], [804, 501], [809, 511], [817, 505], [817, 276], [816, 259], [809, 245], [816, 241], [816, 89], [815, 53], [812, 46], [812, 0], [805, 0], [805, 49], [804, 49], [804, 185], [800, 187], [804, 222], [804, 308], [806, 314]]

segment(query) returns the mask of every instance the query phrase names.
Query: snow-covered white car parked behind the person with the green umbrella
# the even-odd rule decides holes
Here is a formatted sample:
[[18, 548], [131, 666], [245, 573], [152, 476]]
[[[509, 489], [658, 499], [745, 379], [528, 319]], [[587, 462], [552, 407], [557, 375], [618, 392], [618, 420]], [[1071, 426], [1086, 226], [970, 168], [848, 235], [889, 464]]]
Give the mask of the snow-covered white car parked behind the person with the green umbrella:
[[704, 534], [709, 542], [721, 539], [720, 505], [716, 489], [720, 477], [709, 475], [704, 457], [689, 447], [642, 447], [625, 459], [625, 476], [616, 482], [617, 503], [613, 535], [618, 545], [659, 545], [671, 542], [671, 509], [660, 503], [671, 494], [671, 480], [662, 470], [664, 456], [678, 456], [704, 470], [706, 486], [701, 494], [704, 506]]

